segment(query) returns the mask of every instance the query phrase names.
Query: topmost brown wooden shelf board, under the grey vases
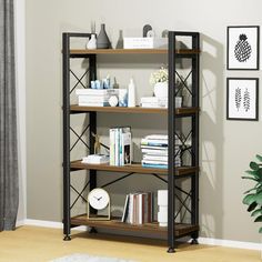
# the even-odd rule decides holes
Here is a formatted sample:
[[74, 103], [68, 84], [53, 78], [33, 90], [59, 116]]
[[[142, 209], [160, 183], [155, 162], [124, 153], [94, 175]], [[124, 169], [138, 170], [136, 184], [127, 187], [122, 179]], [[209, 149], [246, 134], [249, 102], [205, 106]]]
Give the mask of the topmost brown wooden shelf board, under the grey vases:
[[[168, 49], [71, 49], [70, 54], [147, 54], [147, 53], [163, 53], [168, 54]], [[175, 53], [178, 54], [198, 54], [200, 53], [199, 49], [177, 49]]]

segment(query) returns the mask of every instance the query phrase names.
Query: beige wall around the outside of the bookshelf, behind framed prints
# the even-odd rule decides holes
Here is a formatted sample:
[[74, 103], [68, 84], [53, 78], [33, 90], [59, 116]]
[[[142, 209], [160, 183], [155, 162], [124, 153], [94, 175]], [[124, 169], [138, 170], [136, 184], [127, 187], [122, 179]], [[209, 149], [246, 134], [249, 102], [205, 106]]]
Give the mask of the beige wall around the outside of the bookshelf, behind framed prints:
[[[120, 29], [131, 37], [150, 23], [157, 33], [201, 32], [201, 235], [260, 242], [258, 225], [241, 203], [249, 188], [241, 174], [261, 153], [261, 117], [258, 122], [225, 120], [225, 78], [261, 80], [261, 71], [226, 71], [225, 33], [226, 26], [261, 26], [261, 8], [260, 0], [27, 0], [28, 219], [62, 218], [61, 33], [89, 32], [91, 21], [98, 32], [104, 22], [114, 46]], [[128, 81], [129, 75], [122, 79]], [[135, 124], [135, 119], [130, 121]]]

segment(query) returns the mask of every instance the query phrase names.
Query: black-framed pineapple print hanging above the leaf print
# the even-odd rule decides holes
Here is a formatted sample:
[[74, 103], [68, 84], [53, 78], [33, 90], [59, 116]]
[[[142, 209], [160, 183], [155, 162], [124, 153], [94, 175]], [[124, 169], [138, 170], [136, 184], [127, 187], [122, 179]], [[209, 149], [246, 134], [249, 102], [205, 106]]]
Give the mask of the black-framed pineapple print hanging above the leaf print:
[[260, 27], [228, 27], [226, 69], [259, 70]]

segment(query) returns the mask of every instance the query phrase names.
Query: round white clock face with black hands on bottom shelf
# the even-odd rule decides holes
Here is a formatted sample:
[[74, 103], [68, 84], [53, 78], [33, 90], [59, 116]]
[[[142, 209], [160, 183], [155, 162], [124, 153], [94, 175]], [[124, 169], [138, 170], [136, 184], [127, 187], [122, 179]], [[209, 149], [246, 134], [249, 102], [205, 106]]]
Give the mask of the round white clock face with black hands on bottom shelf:
[[102, 210], [109, 204], [109, 194], [103, 189], [93, 189], [88, 195], [89, 204], [97, 210]]

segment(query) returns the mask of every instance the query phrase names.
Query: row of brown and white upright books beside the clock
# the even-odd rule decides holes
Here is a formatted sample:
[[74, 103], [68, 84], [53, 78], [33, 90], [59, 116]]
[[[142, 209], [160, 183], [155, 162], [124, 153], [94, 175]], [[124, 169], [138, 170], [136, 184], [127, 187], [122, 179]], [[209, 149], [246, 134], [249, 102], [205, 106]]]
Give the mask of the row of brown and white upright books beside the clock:
[[153, 221], [153, 193], [137, 192], [125, 196], [122, 222], [130, 224], [151, 223]]

